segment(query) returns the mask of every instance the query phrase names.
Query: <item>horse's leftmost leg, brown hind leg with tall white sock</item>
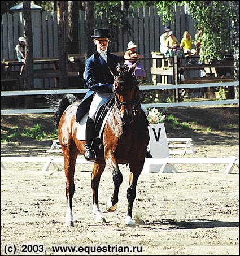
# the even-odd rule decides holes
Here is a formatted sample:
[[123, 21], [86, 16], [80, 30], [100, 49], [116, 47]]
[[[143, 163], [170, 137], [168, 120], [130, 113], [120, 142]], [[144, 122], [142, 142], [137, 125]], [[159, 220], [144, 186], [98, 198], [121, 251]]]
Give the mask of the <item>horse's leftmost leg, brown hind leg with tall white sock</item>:
[[[74, 149], [73, 149], [74, 148]], [[72, 216], [72, 198], [75, 190], [74, 184], [74, 172], [76, 159], [79, 151], [77, 148], [71, 146], [62, 146], [63, 157], [64, 157], [64, 171], [67, 178], [66, 182], [66, 196], [68, 200], [67, 212], [65, 217], [65, 226], [73, 226], [73, 216]]]

